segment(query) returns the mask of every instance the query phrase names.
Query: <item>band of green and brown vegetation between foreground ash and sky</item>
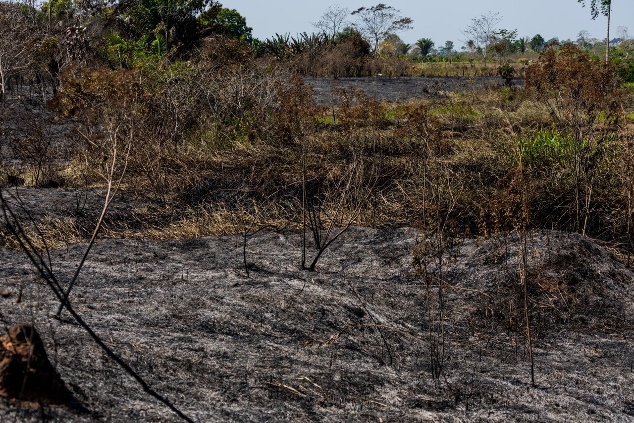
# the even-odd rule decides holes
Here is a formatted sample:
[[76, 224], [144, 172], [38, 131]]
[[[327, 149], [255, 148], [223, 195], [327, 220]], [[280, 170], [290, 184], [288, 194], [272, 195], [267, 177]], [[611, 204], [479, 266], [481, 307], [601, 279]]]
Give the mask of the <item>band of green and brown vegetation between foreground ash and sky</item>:
[[[502, 209], [517, 195], [518, 175], [529, 227], [629, 236], [623, 189], [634, 176], [616, 159], [631, 142], [632, 92], [616, 77], [631, 66], [628, 43], [613, 47], [605, 66], [574, 44], [496, 27], [460, 53], [452, 41], [438, 50], [429, 38], [410, 46], [389, 25], [371, 39], [370, 27], [351, 25], [339, 8], [328, 12], [332, 25], [315, 24], [323, 34], [261, 41], [238, 11], [215, 1], [138, 0], [101, 15], [76, 3], [0, 6], [0, 43], [15, 52], [2, 62], [3, 93], [10, 81], [38, 81], [49, 111], [77, 127], [72, 145], [48, 157], [52, 141], [41, 128], [50, 123], [29, 133], [5, 124], [22, 164], [4, 159], [3, 176], [98, 186], [108, 178], [103, 158], [120, 152], [117, 140], [127, 152], [125, 166], [113, 168], [125, 169], [122, 192], [152, 201], [152, 210], [187, 210], [144, 215], [148, 223], [134, 228], [111, 225], [110, 236], [174, 236], [174, 222], [188, 228], [183, 236], [193, 225], [198, 234], [236, 231], [236, 216], [247, 226], [297, 226], [304, 213], [322, 224], [429, 227], [432, 212], [446, 213], [456, 231], [488, 234], [510, 224]], [[388, 6], [350, 18], [371, 25], [380, 12], [411, 25]], [[482, 36], [482, 25], [498, 19], [483, 15], [470, 30]], [[74, 30], [57, 23], [71, 21]], [[335, 89], [332, 104], [316, 105], [301, 78], [377, 74], [464, 76], [467, 84], [490, 76], [506, 86], [432, 90], [399, 104]], [[524, 77], [526, 88], [517, 86]], [[20, 119], [37, 120], [27, 111]], [[446, 180], [430, 198], [430, 181]], [[65, 232], [81, 238], [79, 229]]]

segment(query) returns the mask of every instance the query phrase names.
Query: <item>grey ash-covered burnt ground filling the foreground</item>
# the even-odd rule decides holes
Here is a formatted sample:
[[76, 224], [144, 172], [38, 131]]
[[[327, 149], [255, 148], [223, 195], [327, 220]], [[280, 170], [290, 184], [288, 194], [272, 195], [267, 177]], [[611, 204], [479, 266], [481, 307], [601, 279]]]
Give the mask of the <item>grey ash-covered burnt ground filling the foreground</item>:
[[[308, 272], [299, 232], [259, 232], [250, 278], [241, 236], [104, 239], [71, 301], [195, 421], [634, 420], [634, 273], [622, 260], [578, 234], [529, 236], [531, 387], [517, 235], [452, 243], [440, 268], [423, 260], [427, 277], [411, 265], [433, 250], [420, 238], [353, 227]], [[84, 248], [51, 251], [61, 283]], [[42, 409], [0, 400], [1, 421], [179, 421], [67, 312], [54, 318], [23, 253], [0, 250], [0, 264], [3, 324], [34, 323], [74, 394]]]

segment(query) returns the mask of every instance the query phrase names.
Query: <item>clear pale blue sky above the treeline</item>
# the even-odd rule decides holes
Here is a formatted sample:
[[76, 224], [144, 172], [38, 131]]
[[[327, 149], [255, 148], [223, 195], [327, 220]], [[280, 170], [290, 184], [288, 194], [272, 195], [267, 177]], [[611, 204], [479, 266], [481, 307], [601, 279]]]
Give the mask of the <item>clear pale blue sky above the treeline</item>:
[[[302, 0], [220, 0], [224, 7], [236, 9], [247, 18], [253, 28], [253, 36], [261, 40], [275, 33], [291, 36], [301, 32], [314, 32], [310, 24], [320, 19], [328, 6], [356, 10], [385, 3], [401, 11], [404, 17], [414, 20], [413, 29], [399, 34], [405, 43], [413, 44], [420, 38], [431, 38], [436, 47], [451, 40], [456, 48], [463, 45], [465, 36], [460, 32], [471, 19], [492, 12], [503, 18], [499, 27], [517, 29], [518, 37], [541, 34], [545, 39], [577, 39], [580, 30], [587, 30], [592, 37], [605, 39], [605, 17], [590, 17], [590, 6], [581, 7], [576, 0], [374, 0], [364, 3], [356, 0], [302, 1]], [[586, 1], [589, 3], [589, 0]], [[354, 17], [351, 17], [354, 18]], [[628, 27], [634, 37], [634, 0], [612, 1], [610, 38], [616, 37], [619, 26]]]

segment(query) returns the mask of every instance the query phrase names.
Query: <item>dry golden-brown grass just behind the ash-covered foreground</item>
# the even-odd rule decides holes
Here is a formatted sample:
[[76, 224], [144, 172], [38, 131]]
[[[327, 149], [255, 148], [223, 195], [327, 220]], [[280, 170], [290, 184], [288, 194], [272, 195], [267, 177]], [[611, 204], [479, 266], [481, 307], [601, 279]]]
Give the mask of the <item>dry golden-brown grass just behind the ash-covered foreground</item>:
[[[421, 69], [441, 68], [423, 64]], [[100, 75], [110, 81], [109, 74]], [[170, 83], [178, 86], [179, 80]], [[127, 89], [134, 91], [136, 85]], [[183, 90], [194, 90], [192, 98], [202, 95], [191, 84]], [[372, 168], [376, 175], [357, 182], [357, 192], [371, 187], [372, 195], [354, 219], [356, 224], [424, 228], [429, 213], [440, 211], [449, 213], [448, 219], [463, 231], [486, 233], [495, 227], [491, 218], [500, 215], [492, 207], [506, 204], [501, 199], [508, 195], [508, 182], [516, 174], [519, 146], [545, 131], [562, 137], [567, 131], [553, 121], [543, 102], [527, 98], [523, 88], [441, 92], [403, 103], [377, 102], [360, 91], [339, 90], [342, 103], [330, 110], [312, 105], [311, 92], [300, 80], [280, 84], [278, 90], [278, 104], [268, 114], [224, 120], [207, 116], [173, 134], [164, 133], [162, 121], [149, 113], [153, 103], [145, 104], [146, 97], [134, 97], [138, 104], [132, 105], [119, 97], [87, 103], [91, 120], [82, 121], [78, 115], [74, 121], [84, 132], [99, 116], [109, 122], [124, 119], [125, 114], [108, 115], [119, 101], [125, 100], [123, 106], [133, 111], [148, 107], [146, 116], [135, 118], [136, 144], [122, 185], [123, 196], [139, 205], [107, 219], [100, 236], [169, 239], [244, 232], [269, 224], [299, 227], [304, 179], [321, 202], [321, 221], [328, 225], [340, 196], [337, 181], [358, 157], [363, 158], [365, 172], [370, 175]], [[626, 95], [627, 115], [633, 112], [634, 93]], [[108, 104], [111, 100], [114, 104]], [[228, 97], [227, 101], [233, 100]], [[191, 107], [187, 105], [186, 110]], [[605, 121], [596, 131], [597, 137], [630, 138], [634, 132], [631, 121], [621, 126]], [[168, 141], [172, 138], [178, 142]], [[70, 156], [62, 158], [67, 164], [56, 168], [58, 178], [67, 187], [100, 187], [101, 156], [82, 146], [81, 139], [70, 138], [70, 142], [74, 145], [60, 150]], [[616, 241], [623, 237], [624, 218], [623, 198], [615, 185], [619, 167], [614, 158], [619, 156], [619, 146], [607, 142], [603, 148], [593, 158], [600, 171], [587, 207], [592, 214], [588, 234]], [[301, 163], [306, 163], [305, 173]], [[533, 190], [531, 225], [572, 229], [570, 175], [544, 166], [528, 167], [524, 175]], [[14, 170], [29, 179], [28, 167]], [[430, 181], [444, 179], [460, 192], [459, 198], [443, 197], [430, 205]], [[341, 221], [354, 214], [353, 203], [344, 203]], [[41, 224], [47, 232], [44, 238], [56, 246], [86, 238], [89, 226], [87, 221], [63, 218]], [[4, 244], [15, 246], [9, 239]]]

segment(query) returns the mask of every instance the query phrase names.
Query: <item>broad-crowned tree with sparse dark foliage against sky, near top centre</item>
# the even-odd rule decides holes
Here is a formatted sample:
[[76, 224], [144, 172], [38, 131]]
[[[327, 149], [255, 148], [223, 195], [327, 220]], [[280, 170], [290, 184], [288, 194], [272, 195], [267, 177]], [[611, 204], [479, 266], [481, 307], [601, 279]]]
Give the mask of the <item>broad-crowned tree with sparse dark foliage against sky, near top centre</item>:
[[357, 17], [354, 27], [374, 46], [373, 53], [378, 53], [379, 44], [389, 34], [411, 29], [411, 18], [401, 15], [400, 10], [384, 3], [378, 3], [370, 8], [358, 8], [351, 15]]

